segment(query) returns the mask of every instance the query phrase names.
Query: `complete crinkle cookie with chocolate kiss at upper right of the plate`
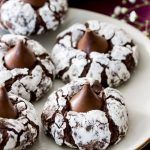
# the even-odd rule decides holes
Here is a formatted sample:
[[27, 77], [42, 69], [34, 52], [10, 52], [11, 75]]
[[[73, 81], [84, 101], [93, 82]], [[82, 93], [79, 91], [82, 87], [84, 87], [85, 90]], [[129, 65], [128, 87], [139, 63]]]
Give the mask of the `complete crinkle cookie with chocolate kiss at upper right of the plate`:
[[104, 87], [116, 87], [130, 78], [138, 63], [138, 51], [124, 30], [91, 20], [60, 33], [52, 59], [57, 77], [64, 82], [90, 77]]

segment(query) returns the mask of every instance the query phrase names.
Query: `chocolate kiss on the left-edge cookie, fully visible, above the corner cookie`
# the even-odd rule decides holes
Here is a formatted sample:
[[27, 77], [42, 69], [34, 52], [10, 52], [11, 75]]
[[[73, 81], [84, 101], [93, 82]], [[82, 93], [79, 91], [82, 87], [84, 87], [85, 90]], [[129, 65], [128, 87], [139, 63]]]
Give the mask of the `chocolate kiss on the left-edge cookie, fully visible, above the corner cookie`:
[[36, 62], [36, 57], [23, 41], [19, 41], [6, 53], [4, 60], [8, 69], [31, 68]]

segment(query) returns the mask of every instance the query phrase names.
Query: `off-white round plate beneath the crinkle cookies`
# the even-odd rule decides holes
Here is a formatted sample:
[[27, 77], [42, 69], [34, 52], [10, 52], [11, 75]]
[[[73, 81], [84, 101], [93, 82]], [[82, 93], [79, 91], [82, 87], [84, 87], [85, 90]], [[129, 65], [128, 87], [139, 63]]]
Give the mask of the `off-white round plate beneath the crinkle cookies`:
[[[118, 89], [123, 93], [126, 99], [126, 105], [129, 111], [129, 131], [127, 136], [117, 145], [110, 147], [112, 150], [134, 150], [143, 145], [146, 141], [150, 141], [150, 40], [145, 37], [140, 31], [127, 25], [126, 23], [112, 19], [110, 17], [84, 11], [80, 9], [70, 9], [66, 22], [57, 30], [57, 32], [48, 32], [40, 36], [33, 36], [31, 38], [39, 41], [45, 48], [51, 51], [56, 35], [77, 22], [85, 22], [89, 19], [98, 19], [100, 21], [106, 21], [114, 23], [117, 26], [126, 30], [134, 41], [139, 46], [140, 62], [136, 68], [132, 78]], [[59, 55], [59, 54], [58, 54]], [[64, 85], [61, 81], [56, 80], [54, 82], [53, 89], [49, 94]], [[35, 108], [39, 116], [42, 112], [42, 107], [46, 101], [48, 94], [43, 100], [34, 103]], [[55, 144], [53, 139], [48, 138], [42, 132], [38, 141], [32, 146], [32, 150], [63, 150], [66, 147], [59, 147]], [[68, 148], [69, 149], [69, 148]]]

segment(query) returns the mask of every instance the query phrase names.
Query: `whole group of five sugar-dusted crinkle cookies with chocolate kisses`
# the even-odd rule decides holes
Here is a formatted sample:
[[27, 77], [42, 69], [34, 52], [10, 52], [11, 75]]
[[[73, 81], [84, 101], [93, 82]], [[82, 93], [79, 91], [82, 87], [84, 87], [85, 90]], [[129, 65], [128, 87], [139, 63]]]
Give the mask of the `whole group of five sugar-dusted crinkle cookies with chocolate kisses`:
[[118, 143], [128, 131], [128, 111], [114, 88], [138, 64], [130, 36], [98, 20], [76, 23], [57, 36], [50, 55], [27, 36], [56, 30], [67, 14], [66, 0], [2, 0], [0, 7], [1, 28], [11, 33], [0, 37], [0, 149], [35, 143], [39, 120], [31, 102], [42, 100], [55, 78], [66, 85], [42, 106], [43, 132], [81, 150]]

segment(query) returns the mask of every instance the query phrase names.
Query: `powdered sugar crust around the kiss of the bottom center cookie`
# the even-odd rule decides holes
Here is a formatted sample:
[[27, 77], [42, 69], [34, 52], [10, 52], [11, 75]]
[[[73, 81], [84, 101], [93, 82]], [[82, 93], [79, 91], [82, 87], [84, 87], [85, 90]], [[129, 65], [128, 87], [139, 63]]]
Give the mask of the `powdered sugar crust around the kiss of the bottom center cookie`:
[[68, 102], [87, 82], [92, 86], [95, 81], [92, 78], [80, 78], [54, 91], [44, 105], [42, 123], [46, 133], [50, 134], [58, 145], [66, 144], [78, 149], [106, 149], [110, 145], [112, 134], [108, 115], [119, 130], [117, 142], [127, 132], [128, 114], [123, 102], [124, 98], [119, 91], [106, 88], [104, 97], [108, 112], [105, 110], [91, 110], [86, 113], [70, 111]]

